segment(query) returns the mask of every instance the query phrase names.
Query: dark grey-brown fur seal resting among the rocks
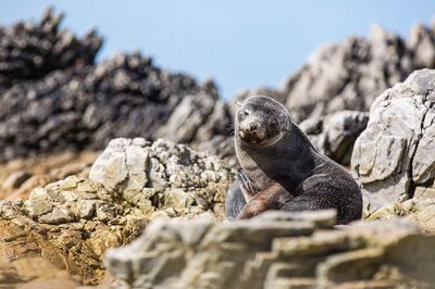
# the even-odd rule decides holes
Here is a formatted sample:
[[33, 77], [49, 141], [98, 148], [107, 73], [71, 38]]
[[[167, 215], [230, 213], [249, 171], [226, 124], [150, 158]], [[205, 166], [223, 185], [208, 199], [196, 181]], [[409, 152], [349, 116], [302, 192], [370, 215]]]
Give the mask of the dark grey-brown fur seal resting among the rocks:
[[320, 154], [287, 109], [250, 97], [235, 116], [241, 166], [226, 197], [226, 216], [249, 218], [266, 210], [336, 209], [337, 223], [361, 218], [362, 196], [345, 168]]

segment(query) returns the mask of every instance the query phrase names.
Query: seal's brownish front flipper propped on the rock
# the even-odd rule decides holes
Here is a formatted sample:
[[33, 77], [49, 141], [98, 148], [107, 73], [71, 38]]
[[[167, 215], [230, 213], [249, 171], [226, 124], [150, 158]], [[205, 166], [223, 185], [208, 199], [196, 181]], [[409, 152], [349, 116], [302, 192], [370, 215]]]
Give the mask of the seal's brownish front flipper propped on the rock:
[[294, 197], [283, 186], [271, 181], [245, 205], [237, 218], [250, 218], [268, 210], [281, 210], [293, 199]]

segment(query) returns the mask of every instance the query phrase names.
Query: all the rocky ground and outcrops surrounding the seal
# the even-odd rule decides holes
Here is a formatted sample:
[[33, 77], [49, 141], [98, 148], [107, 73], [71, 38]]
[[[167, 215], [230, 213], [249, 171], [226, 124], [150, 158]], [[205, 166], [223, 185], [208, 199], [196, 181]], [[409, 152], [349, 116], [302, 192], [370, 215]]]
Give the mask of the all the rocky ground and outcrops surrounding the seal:
[[351, 171], [364, 221], [337, 227], [225, 222], [234, 101], [138, 52], [96, 63], [102, 37], [61, 21], [0, 27], [0, 288], [433, 288], [435, 26], [374, 26], [233, 99], [279, 100]]

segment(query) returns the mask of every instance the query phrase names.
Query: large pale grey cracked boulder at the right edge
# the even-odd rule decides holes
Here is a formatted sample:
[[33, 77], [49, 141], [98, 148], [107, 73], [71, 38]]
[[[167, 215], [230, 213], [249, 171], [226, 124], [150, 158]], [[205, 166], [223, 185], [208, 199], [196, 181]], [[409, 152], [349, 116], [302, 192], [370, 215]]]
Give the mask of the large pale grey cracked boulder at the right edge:
[[352, 171], [372, 212], [413, 197], [435, 178], [435, 71], [422, 70], [376, 98], [357, 139]]

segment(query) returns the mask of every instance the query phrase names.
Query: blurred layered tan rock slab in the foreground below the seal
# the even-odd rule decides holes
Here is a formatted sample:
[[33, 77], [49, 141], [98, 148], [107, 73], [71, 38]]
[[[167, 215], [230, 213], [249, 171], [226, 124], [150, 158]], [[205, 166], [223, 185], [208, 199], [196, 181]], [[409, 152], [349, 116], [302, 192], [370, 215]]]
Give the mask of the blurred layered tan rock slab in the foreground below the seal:
[[112, 288], [430, 288], [434, 236], [406, 219], [332, 228], [335, 214], [160, 221], [107, 253]]

